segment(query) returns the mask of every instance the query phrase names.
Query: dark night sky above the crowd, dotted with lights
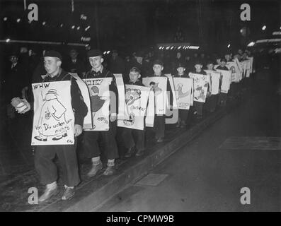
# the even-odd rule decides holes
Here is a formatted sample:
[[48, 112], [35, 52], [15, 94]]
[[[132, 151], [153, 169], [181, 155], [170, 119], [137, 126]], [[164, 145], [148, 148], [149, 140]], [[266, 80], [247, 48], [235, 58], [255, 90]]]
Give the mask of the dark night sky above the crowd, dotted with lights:
[[[76, 1], [71, 13], [71, 0], [27, 0], [39, 7], [39, 21], [29, 24], [23, 0], [1, 1], [1, 39], [51, 40], [81, 42], [81, 37], [91, 37], [91, 46], [102, 49], [139, 49], [158, 42], [173, 42], [180, 26], [186, 42], [213, 47], [217, 44], [249, 42], [272, 30], [280, 29], [279, 1], [132, 1], [103, 0]], [[249, 3], [251, 21], [240, 20], [240, 5]], [[87, 20], [81, 20], [84, 13]], [[4, 22], [3, 18], [8, 20]], [[16, 19], [21, 18], [21, 23]], [[42, 25], [46, 21], [46, 25]], [[62, 28], [59, 25], [63, 23]], [[71, 29], [79, 25], [80, 30]], [[86, 26], [91, 28], [85, 32]], [[263, 32], [261, 27], [267, 25]], [[240, 29], [250, 29], [242, 37]]]

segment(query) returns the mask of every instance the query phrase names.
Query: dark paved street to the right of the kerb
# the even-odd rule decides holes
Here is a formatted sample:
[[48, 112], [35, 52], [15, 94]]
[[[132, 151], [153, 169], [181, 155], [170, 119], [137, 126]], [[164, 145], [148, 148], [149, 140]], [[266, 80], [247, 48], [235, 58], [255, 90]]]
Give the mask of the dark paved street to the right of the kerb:
[[[152, 179], [93, 211], [280, 211], [280, 96], [273, 87], [268, 71], [259, 73], [234, 112], [153, 169]], [[240, 203], [243, 187], [251, 205]]]

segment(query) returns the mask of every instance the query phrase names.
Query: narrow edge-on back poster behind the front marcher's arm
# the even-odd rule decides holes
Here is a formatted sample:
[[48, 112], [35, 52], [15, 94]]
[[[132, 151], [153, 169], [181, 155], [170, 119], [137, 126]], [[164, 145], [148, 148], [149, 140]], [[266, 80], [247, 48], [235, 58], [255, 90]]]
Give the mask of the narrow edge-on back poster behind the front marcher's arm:
[[92, 115], [91, 115], [91, 102], [90, 102], [90, 96], [88, 95], [87, 85], [77, 75], [77, 73], [69, 73], [69, 74], [76, 79], [76, 83], [79, 86], [79, 89], [81, 91], [81, 95], [84, 99], [85, 104], [88, 107], [88, 112], [86, 114], [86, 117], [84, 118], [83, 129], [91, 129], [91, 128], [93, 128], [93, 124], [92, 124]]

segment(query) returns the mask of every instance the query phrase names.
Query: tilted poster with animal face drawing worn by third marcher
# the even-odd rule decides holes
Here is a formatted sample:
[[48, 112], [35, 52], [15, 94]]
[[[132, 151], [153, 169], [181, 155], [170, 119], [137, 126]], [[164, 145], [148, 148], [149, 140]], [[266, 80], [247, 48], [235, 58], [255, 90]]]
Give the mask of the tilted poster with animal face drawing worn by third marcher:
[[150, 88], [139, 85], [125, 85], [125, 92], [125, 102], [130, 119], [118, 120], [117, 126], [143, 130]]

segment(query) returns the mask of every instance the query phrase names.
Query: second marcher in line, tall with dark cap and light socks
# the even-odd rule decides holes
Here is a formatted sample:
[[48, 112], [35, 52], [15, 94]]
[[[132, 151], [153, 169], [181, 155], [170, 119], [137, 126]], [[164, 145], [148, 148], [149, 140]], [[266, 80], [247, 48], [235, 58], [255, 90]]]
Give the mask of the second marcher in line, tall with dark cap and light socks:
[[[84, 131], [84, 147], [89, 158], [92, 160], [92, 168], [88, 177], [93, 177], [103, 168], [101, 162], [101, 150], [98, 146], [98, 137], [101, 136], [105, 145], [105, 153], [108, 159], [108, 167], [103, 174], [112, 175], [115, 172], [115, 159], [119, 157], [115, 141], [118, 91], [113, 73], [103, 67], [103, 53], [98, 49], [91, 49], [88, 52], [88, 60], [92, 66], [91, 71], [86, 73], [85, 78], [113, 78], [110, 89], [110, 123], [108, 131]], [[113, 94], [115, 97], [113, 97]]]

